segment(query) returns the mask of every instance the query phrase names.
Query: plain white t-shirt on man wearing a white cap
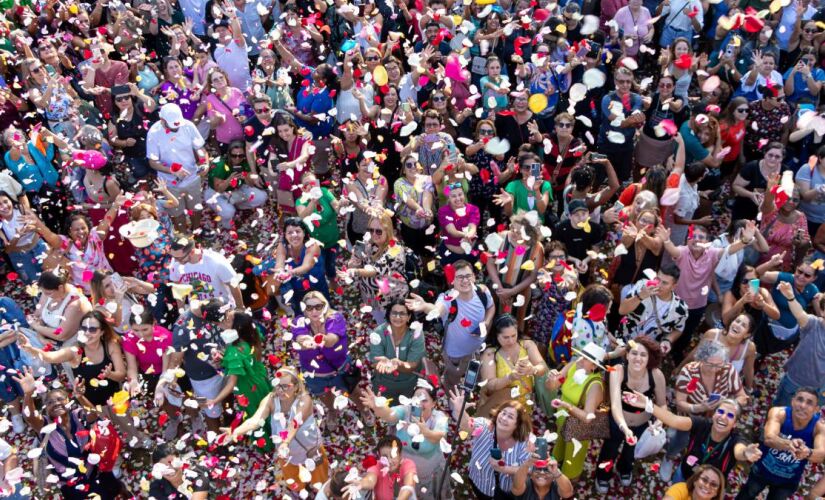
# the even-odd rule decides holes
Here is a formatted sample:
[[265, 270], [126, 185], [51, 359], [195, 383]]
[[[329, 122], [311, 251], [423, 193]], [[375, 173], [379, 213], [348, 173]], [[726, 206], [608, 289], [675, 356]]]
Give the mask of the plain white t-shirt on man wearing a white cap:
[[167, 133], [166, 127], [160, 121], [155, 122], [146, 134], [146, 157], [161, 162], [171, 168], [180, 164], [189, 175], [179, 179], [174, 174], [158, 172], [158, 177], [166, 181], [167, 185], [175, 188], [184, 188], [199, 182], [198, 159], [195, 150], [202, 148], [206, 142], [194, 123], [184, 120], [175, 131]]

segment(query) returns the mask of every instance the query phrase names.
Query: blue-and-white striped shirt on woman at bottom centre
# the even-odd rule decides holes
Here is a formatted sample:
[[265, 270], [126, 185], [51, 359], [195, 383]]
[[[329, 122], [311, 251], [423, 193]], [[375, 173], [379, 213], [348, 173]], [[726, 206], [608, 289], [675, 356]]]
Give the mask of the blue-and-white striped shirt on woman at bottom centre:
[[[473, 419], [473, 445], [470, 455], [470, 480], [482, 493], [493, 496], [495, 491], [495, 473], [490, 466], [490, 449], [495, 446], [491, 422], [486, 418]], [[519, 466], [529, 458], [527, 442], [516, 441], [509, 450], [502, 452], [502, 460], [507, 466]], [[513, 477], [499, 474], [501, 491], [509, 493], [513, 489]]]

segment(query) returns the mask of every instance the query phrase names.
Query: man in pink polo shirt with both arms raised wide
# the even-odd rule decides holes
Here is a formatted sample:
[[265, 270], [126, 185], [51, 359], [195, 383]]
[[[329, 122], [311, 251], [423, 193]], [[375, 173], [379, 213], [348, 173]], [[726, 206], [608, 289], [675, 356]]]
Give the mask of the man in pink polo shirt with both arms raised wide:
[[681, 363], [684, 359], [693, 331], [705, 316], [710, 281], [722, 254], [741, 252], [756, 239], [756, 225], [752, 221], [748, 221], [742, 230], [742, 239], [723, 248], [708, 246], [708, 230], [704, 226], [691, 227], [693, 230], [688, 231], [687, 245], [681, 246], [674, 245], [670, 240], [670, 229], [661, 225], [656, 228], [656, 236], [664, 242], [665, 251], [682, 273], [675, 292], [688, 306], [684, 331], [675, 340], [671, 349], [676, 363]]

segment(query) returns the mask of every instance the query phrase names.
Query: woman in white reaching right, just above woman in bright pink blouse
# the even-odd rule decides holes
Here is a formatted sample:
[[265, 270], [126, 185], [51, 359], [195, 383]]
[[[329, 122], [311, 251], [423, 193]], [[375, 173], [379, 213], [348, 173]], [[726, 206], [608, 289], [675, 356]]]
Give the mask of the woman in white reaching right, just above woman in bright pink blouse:
[[95, 271], [90, 282], [92, 304], [111, 321], [118, 335], [129, 330], [129, 316], [135, 307], [142, 307], [141, 295], [155, 293], [151, 283], [111, 271]]

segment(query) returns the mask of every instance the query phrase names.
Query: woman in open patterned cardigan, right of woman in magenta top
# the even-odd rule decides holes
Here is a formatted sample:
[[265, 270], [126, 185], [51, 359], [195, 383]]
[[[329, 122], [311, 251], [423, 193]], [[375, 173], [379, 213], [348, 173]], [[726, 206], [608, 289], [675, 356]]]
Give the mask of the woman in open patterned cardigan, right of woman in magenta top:
[[533, 283], [538, 270], [544, 266], [544, 247], [539, 232], [524, 214], [513, 216], [509, 230], [499, 233], [499, 238], [501, 246], [490, 249], [495, 255], [487, 259], [487, 276], [493, 285], [499, 310], [512, 313], [522, 330]]

